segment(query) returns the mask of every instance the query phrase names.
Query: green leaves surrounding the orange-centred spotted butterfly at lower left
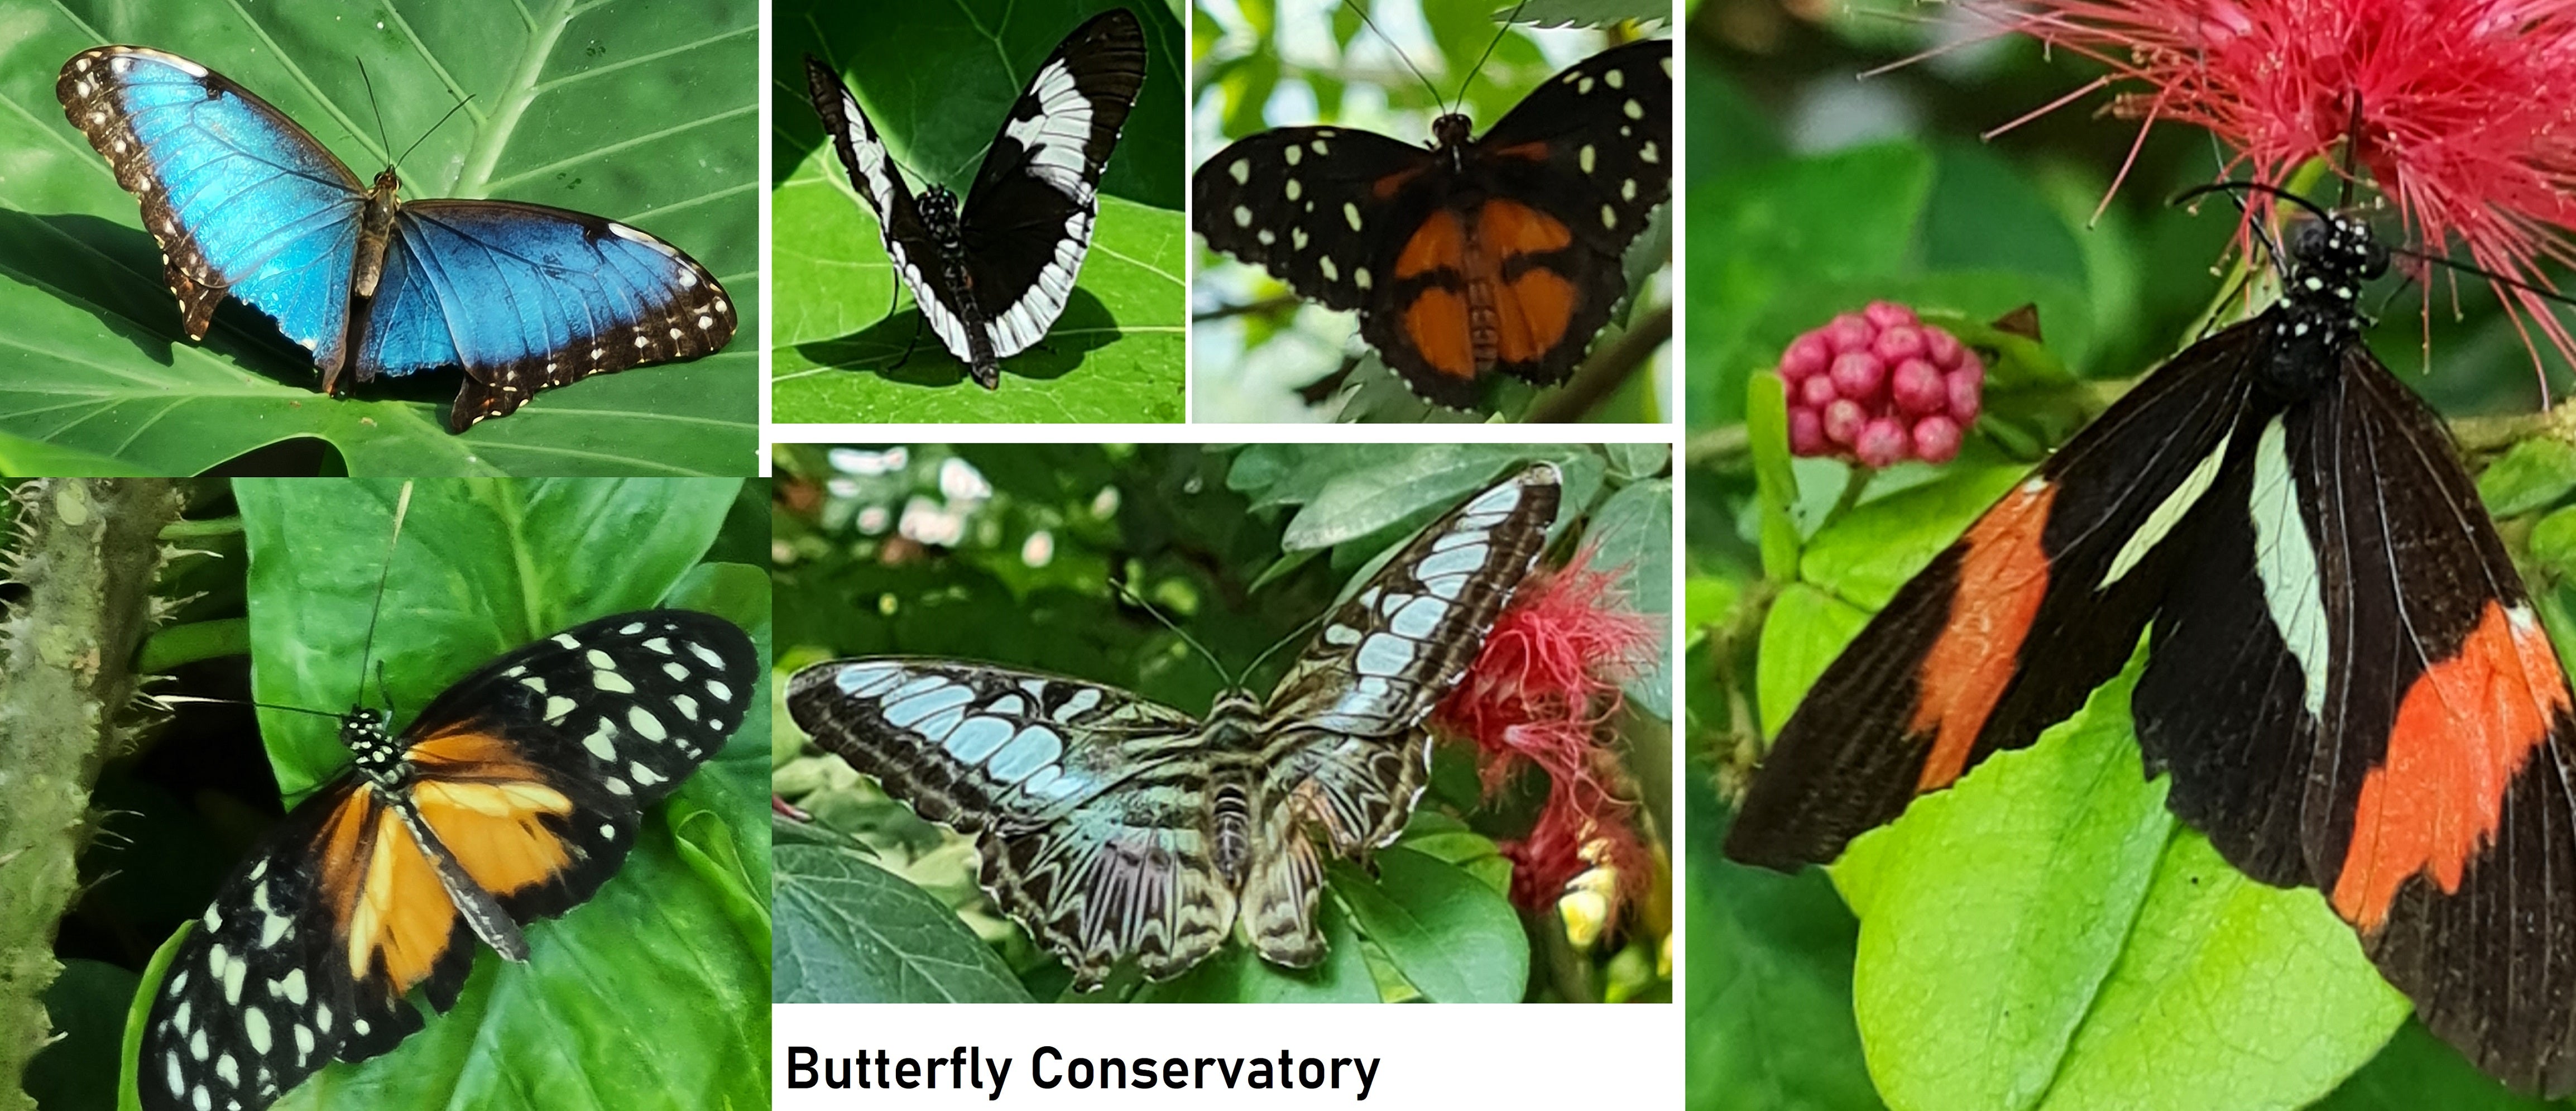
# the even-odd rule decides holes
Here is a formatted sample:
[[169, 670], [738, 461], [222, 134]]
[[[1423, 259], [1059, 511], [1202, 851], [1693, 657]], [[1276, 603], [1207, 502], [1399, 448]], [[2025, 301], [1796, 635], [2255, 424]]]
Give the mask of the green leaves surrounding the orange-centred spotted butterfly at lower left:
[[[719, 539], [719, 528], [762, 526], [757, 516], [729, 513], [739, 487], [739, 479], [420, 482], [386, 565], [399, 482], [242, 479], [232, 495], [250, 559], [247, 572], [242, 559], [224, 562], [232, 577], [224, 608], [229, 619], [250, 619], [252, 681], [242, 691], [188, 678], [178, 691], [255, 693], [325, 711], [353, 696], [368, 704], [389, 696], [399, 729], [410, 711], [502, 650], [657, 603], [721, 613], [752, 632], [765, 655], [765, 575], [703, 562], [711, 546], [744, 541]], [[384, 606], [368, 650], [379, 575]], [[191, 616], [227, 619], [222, 608]], [[381, 686], [368, 675], [361, 691], [361, 660], [384, 662]], [[180, 724], [214, 711], [188, 709]], [[330, 719], [263, 711], [268, 766], [289, 797], [345, 768], [348, 753], [332, 729]], [[768, 732], [768, 699], [755, 696], [732, 742], [647, 812], [626, 866], [590, 902], [526, 931], [528, 964], [500, 961], [469, 938], [474, 974], [448, 1016], [384, 1057], [332, 1065], [278, 1106], [608, 1108], [768, 1098], [770, 923], [768, 900], [752, 897], [770, 882], [760, 822]], [[250, 768], [247, 781], [276, 791], [265, 786], [270, 768]], [[232, 773], [198, 776], [232, 781]], [[152, 892], [118, 887], [157, 887], [162, 866], [155, 861], [170, 853], [193, 866], [167, 879], [180, 894], [160, 900], [167, 905], [155, 915], [193, 918], [234, 869], [240, 843], [265, 822], [258, 809], [273, 807], [276, 794], [232, 799], [201, 789], [198, 809], [149, 786], [155, 781], [137, 776], [103, 786], [103, 797], [137, 812], [124, 825], [134, 848], [108, 853], [103, 866], [137, 871], [118, 874], [100, 897], [152, 905]], [[232, 848], [188, 851], [170, 838]], [[167, 923], [124, 928], [157, 941]], [[160, 969], [149, 969], [142, 990], [157, 982]], [[129, 1036], [139, 1021], [137, 1003]], [[654, 1070], [634, 1067], [636, 1044], [659, 1047]]]

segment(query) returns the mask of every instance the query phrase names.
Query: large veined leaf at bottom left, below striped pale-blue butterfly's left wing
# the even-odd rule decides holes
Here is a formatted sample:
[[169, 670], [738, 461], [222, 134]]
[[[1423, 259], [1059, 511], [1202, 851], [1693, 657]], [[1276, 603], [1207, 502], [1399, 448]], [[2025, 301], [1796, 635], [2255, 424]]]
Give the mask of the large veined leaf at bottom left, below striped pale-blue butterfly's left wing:
[[788, 838], [770, 894], [775, 1003], [1030, 1003], [945, 902], [858, 851]]

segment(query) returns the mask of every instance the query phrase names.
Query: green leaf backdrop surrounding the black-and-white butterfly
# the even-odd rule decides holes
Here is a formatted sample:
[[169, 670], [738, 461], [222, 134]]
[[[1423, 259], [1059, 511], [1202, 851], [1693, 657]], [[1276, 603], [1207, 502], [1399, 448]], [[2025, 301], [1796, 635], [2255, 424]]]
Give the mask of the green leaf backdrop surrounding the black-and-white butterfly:
[[[1146, 80], [1100, 178], [1100, 219], [1074, 296], [1046, 340], [1002, 361], [1002, 387], [920, 333], [876, 214], [824, 144], [806, 95], [806, 54], [858, 95], [914, 191], [966, 193], [984, 147], [1030, 70], [1110, 0], [786, 5], [773, 54], [778, 106], [773, 276], [786, 307], [773, 335], [775, 420], [827, 423], [1167, 423], [1182, 418], [1180, 23], [1144, 23]], [[909, 353], [907, 353], [909, 351]]]

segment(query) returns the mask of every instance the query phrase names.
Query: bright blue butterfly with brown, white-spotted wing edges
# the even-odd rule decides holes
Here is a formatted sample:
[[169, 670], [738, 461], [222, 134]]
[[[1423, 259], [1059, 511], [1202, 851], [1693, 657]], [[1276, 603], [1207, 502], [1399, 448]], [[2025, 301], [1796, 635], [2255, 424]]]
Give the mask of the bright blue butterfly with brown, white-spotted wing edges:
[[582, 211], [394, 198], [224, 75], [144, 46], [72, 54], [62, 111], [144, 204], [188, 338], [237, 296], [314, 353], [322, 392], [464, 366], [448, 430], [538, 389], [698, 358], [734, 338], [677, 247]]

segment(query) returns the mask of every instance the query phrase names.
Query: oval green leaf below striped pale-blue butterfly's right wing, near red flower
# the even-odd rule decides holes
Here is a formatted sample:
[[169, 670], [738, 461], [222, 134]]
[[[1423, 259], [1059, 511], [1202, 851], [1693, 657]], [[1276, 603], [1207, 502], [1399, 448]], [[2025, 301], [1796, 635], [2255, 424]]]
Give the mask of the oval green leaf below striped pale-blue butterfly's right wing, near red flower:
[[1432, 1003], [1520, 1003], [1530, 938], [1512, 905], [1466, 869], [1412, 848], [1378, 851], [1378, 876], [1334, 861], [1332, 892]]

